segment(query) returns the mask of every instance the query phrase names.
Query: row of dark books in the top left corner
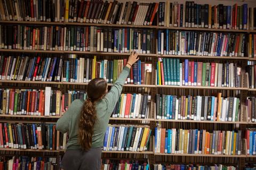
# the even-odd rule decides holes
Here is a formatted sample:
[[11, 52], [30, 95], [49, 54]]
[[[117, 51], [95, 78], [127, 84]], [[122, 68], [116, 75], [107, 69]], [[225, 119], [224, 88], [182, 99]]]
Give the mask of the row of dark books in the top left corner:
[[0, 3], [0, 16], [3, 21], [48, 21], [63, 22], [64, 1], [15, 1]]

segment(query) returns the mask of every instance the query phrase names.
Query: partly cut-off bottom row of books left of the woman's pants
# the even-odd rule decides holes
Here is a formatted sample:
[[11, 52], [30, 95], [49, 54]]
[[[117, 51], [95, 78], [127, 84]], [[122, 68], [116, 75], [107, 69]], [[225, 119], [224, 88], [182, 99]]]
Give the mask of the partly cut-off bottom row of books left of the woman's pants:
[[0, 160], [0, 169], [9, 170], [9, 169], [51, 169], [57, 170], [57, 160], [56, 158], [51, 157], [27, 157], [21, 156], [12, 158], [5, 158]]

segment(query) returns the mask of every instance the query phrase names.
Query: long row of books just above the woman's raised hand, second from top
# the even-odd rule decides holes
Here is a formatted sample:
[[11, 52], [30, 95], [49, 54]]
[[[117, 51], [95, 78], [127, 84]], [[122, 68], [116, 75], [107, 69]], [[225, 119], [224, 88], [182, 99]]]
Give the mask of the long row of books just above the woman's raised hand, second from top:
[[0, 48], [155, 54], [152, 29], [0, 25]]

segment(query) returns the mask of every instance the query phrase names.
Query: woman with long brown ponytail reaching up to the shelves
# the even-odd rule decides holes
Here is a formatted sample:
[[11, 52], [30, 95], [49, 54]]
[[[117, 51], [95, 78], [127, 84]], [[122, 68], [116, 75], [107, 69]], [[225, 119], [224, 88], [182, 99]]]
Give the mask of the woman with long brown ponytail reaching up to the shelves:
[[61, 161], [64, 170], [100, 169], [101, 147], [109, 117], [121, 94], [131, 66], [139, 60], [133, 52], [119, 78], [108, 92], [104, 79], [93, 79], [87, 86], [87, 100], [74, 100], [59, 118], [56, 128], [68, 132], [67, 150]]

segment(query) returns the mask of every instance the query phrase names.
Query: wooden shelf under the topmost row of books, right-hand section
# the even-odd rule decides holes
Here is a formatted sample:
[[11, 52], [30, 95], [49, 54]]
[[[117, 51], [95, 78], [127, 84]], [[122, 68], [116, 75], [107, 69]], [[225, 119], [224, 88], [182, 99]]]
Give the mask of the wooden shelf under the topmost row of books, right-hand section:
[[158, 29], [170, 30], [189, 30], [189, 31], [221, 31], [221, 32], [253, 32], [255, 30], [235, 30], [235, 29], [215, 29], [215, 28], [190, 28], [190, 27], [164, 27], [158, 26]]

